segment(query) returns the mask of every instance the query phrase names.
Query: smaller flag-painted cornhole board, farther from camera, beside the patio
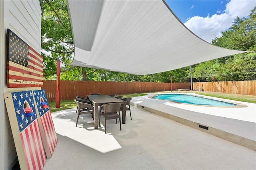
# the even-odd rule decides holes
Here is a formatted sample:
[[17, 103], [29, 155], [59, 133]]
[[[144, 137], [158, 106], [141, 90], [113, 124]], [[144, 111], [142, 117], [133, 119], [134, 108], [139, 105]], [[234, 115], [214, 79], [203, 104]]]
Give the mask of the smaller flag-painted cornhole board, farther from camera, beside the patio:
[[33, 91], [42, 139], [47, 158], [50, 158], [58, 142], [57, 134], [52, 122], [52, 116], [44, 90]]

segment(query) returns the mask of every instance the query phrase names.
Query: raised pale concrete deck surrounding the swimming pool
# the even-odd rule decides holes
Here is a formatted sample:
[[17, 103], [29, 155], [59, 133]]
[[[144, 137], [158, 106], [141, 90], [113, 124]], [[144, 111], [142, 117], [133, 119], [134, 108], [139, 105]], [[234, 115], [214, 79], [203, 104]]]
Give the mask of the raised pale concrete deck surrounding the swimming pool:
[[[248, 106], [226, 108], [196, 106], [150, 99], [150, 97], [157, 94], [163, 93], [151, 93], [146, 96], [133, 97], [132, 105], [256, 150], [256, 104], [208, 97]], [[191, 95], [192, 93], [189, 94]]]

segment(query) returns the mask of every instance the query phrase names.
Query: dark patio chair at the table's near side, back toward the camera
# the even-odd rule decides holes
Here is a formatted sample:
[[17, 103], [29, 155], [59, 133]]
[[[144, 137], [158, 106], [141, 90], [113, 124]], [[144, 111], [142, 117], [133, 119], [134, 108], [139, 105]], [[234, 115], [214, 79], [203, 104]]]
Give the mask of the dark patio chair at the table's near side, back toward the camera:
[[[100, 106], [100, 111], [102, 111], [101, 114], [105, 117], [105, 133], [107, 129], [106, 120], [121, 119], [120, 109], [121, 109], [121, 103], [108, 103]], [[100, 120], [99, 120], [99, 126], [100, 126]], [[120, 121], [120, 130], [122, 130], [121, 121]]]

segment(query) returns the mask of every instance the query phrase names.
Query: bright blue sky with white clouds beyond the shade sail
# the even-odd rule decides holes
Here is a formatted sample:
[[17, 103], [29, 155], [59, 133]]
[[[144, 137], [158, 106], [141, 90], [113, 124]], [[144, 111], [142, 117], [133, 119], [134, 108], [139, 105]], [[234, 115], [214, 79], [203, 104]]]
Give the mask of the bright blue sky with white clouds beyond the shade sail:
[[166, 3], [194, 34], [207, 42], [222, 36], [238, 16], [246, 17], [256, 0], [166, 0]]

